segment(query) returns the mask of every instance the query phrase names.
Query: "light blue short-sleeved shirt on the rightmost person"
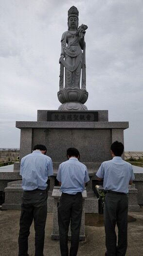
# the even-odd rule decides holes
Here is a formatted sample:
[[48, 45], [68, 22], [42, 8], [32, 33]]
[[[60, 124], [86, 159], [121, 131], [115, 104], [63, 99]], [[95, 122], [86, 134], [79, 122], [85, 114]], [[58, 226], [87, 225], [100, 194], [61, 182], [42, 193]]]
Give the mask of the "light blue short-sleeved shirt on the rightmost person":
[[104, 179], [104, 190], [128, 193], [128, 184], [135, 176], [130, 163], [125, 162], [120, 156], [103, 162], [96, 173], [97, 177]]

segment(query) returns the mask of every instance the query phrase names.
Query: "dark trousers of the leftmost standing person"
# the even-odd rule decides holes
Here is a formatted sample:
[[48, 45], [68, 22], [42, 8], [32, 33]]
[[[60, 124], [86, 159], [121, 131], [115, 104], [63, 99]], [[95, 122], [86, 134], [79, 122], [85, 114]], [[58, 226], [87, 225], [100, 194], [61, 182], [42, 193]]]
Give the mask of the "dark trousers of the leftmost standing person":
[[34, 219], [35, 256], [43, 256], [45, 224], [47, 218], [47, 191], [34, 190], [23, 192], [18, 237], [18, 256], [28, 254], [28, 236]]

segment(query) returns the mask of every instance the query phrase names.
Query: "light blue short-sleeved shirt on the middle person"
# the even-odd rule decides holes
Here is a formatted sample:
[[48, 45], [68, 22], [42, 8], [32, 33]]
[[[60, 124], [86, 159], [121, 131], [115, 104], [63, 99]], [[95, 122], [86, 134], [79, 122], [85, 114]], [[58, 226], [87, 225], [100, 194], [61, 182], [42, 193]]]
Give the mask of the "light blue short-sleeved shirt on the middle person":
[[84, 191], [85, 183], [89, 181], [89, 173], [84, 164], [76, 157], [71, 157], [59, 165], [56, 178], [61, 182], [61, 192], [76, 194]]

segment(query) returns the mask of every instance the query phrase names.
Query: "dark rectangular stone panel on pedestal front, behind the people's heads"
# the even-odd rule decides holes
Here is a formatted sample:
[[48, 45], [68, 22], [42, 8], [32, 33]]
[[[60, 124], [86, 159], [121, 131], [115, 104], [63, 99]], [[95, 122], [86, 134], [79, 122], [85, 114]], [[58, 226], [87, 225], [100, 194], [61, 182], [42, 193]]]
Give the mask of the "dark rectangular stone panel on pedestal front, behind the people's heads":
[[66, 161], [66, 149], [72, 147], [79, 150], [81, 162], [101, 163], [110, 159], [110, 134], [109, 129], [37, 128], [33, 129], [33, 145], [44, 144], [53, 162]]

